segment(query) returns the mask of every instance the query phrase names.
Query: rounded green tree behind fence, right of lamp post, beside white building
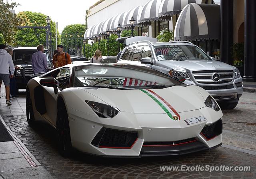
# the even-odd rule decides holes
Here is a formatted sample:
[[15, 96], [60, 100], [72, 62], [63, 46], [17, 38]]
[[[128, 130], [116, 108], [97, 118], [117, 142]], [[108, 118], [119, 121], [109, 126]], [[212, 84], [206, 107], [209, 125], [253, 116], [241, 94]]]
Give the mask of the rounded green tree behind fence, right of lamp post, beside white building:
[[82, 55], [85, 28], [84, 24], [72, 24], [64, 28], [61, 41], [66, 51], [76, 56]]

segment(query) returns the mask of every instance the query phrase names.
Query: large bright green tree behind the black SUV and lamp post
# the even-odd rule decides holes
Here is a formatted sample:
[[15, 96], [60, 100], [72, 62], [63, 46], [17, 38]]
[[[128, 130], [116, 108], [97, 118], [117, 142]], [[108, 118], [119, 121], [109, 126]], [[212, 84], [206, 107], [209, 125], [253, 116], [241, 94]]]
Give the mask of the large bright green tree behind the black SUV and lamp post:
[[[24, 11], [17, 15], [20, 19], [20, 26], [46, 26], [47, 16], [42, 13]], [[51, 33], [55, 34], [55, 22], [51, 21]], [[15, 34], [16, 44], [18, 46], [37, 46], [43, 44], [46, 46], [46, 32], [45, 29], [22, 28]], [[52, 43], [55, 40], [52, 39]], [[56, 42], [55, 42], [56, 43]]]

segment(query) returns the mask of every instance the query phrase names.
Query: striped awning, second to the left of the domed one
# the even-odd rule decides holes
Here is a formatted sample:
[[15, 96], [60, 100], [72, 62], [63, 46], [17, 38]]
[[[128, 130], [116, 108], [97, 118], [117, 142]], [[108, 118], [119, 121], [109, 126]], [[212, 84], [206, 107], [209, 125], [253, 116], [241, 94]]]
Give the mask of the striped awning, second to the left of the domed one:
[[158, 20], [158, 10], [162, 0], [151, 0], [147, 2], [142, 11], [138, 14], [138, 24], [148, 24], [151, 21]]

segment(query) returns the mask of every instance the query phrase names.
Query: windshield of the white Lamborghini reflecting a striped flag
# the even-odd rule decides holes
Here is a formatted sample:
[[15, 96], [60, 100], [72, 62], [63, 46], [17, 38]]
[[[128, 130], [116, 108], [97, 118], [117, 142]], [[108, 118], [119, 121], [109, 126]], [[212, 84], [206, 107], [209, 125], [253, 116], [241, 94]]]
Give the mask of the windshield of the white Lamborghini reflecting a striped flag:
[[86, 65], [75, 69], [74, 87], [166, 88], [180, 85], [169, 76], [144, 66]]

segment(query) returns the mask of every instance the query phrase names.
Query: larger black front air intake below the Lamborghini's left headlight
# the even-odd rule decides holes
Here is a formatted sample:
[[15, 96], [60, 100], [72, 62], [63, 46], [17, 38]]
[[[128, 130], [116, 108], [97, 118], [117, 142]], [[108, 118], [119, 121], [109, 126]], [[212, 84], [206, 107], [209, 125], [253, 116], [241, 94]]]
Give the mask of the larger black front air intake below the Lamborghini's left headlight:
[[130, 149], [137, 138], [137, 132], [102, 127], [91, 144], [100, 148]]

